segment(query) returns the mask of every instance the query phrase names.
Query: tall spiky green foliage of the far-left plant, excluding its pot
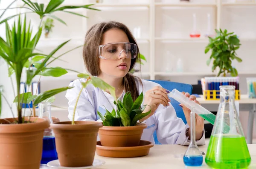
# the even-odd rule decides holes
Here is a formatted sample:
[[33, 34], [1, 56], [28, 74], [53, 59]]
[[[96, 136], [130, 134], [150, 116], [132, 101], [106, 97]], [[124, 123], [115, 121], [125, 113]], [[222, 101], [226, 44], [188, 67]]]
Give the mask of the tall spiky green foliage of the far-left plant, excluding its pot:
[[[14, 0], [7, 9], [14, 9], [9, 8], [16, 0]], [[52, 89], [46, 92], [43, 92], [39, 95], [33, 95], [31, 92], [26, 92], [23, 94], [20, 94], [20, 91], [24, 89], [20, 89], [20, 82], [21, 82], [21, 75], [23, 68], [26, 68], [26, 85], [31, 86], [32, 79], [36, 75], [41, 76], [52, 76], [52, 77], [59, 77], [63, 74], [67, 73], [66, 69], [63, 69], [61, 67], [47, 67], [50, 63], [53, 61], [59, 59], [59, 57], [63, 56], [64, 54], [67, 54], [68, 52], [77, 49], [81, 46], [78, 46], [74, 49], [71, 49], [58, 57], [53, 57], [53, 55], [61, 49], [66, 43], [68, 43], [70, 40], [67, 40], [64, 43], [61, 43], [57, 48], [55, 48], [50, 54], [41, 54], [41, 53], [35, 53], [34, 49], [38, 43], [39, 38], [41, 37], [42, 32], [42, 20], [45, 16], [52, 17], [53, 19], [56, 19], [60, 21], [61, 23], [66, 23], [61, 20], [60, 18], [56, 17], [52, 13], [55, 11], [63, 11], [70, 14], [76, 14], [82, 17], [85, 17], [84, 15], [71, 12], [71, 11], [65, 11], [65, 9], [77, 9], [77, 8], [85, 8], [85, 9], [93, 9], [90, 8], [91, 5], [84, 5], [84, 6], [61, 6], [59, 7], [64, 0], [50, 0], [46, 8], [44, 8], [44, 4], [38, 4], [38, 3], [32, 3], [31, 0], [22, 0], [25, 5], [23, 7], [18, 8], [24, 8], [28, 9], [30, 12], [25, 13], [36, 13], [40, 16], [41, 21], [38, 26], [38, 32], [36, 32], [35, 36], [32, 37], [32, 29], [30, 28], [30, 22], [29, 26], [27, 26], [26, 23], [26, 16], [24, 19], [21, 18], [22, 14], [16, 14], [11, 17], [7, 17], [4, 20], [0, 21], [1, 23], [6, 23], [6, 40], [4, 40], [2, 37], [0, 37], [0, 57], [2, 57], [6, 63], [9, 66], [9, 77], [11, 77], [12, 74], [15, 74], [15, 80], [17, 85], [17, 95], [15, 95], [14, 102], [17, 103], [17, 123], [24, 123], [22, 118], [22, 103], [30, 103], [33, 101], [33, 109], [34, 109], [34, 116], [35, 116], [35, 106], [42, 102], [47, 100], [49, 97], [52, 97], [53, 95], [56, 95], [60, 92], [64, 92], [67, 89], [71, 89], [72, 87], [64, 87], [59, 89]], [[5, 11], [7, 10], [5, 9]], [[98, 10], [98, 9], [93, 9]], [[0, 18], [3, 16], [4, 12], [1, 14]], [[7, 20], [18, 16], [17, 23], [14, 22], [14, 25], [12, 28], [10, 28], [9, 24], [7, 23]], [[42, 63], [37, 63], [39, 60], [44, 60]], [[35, 69], [31, 69], [31, 65], [35, 66]], [[12, 77], [11, 77], [12, 80]], [[39, 78], [40, 80], [40, 78]], [[2, 95], [2, 94], [1, 94]], [[11, 107], [10, 107], [11, 108]], [[12, 109], [11, 109], [12, 111]], [[13, 113], [12, 113], [13, 114]], [[14, 117], [14, 115], [13, 115]]]

